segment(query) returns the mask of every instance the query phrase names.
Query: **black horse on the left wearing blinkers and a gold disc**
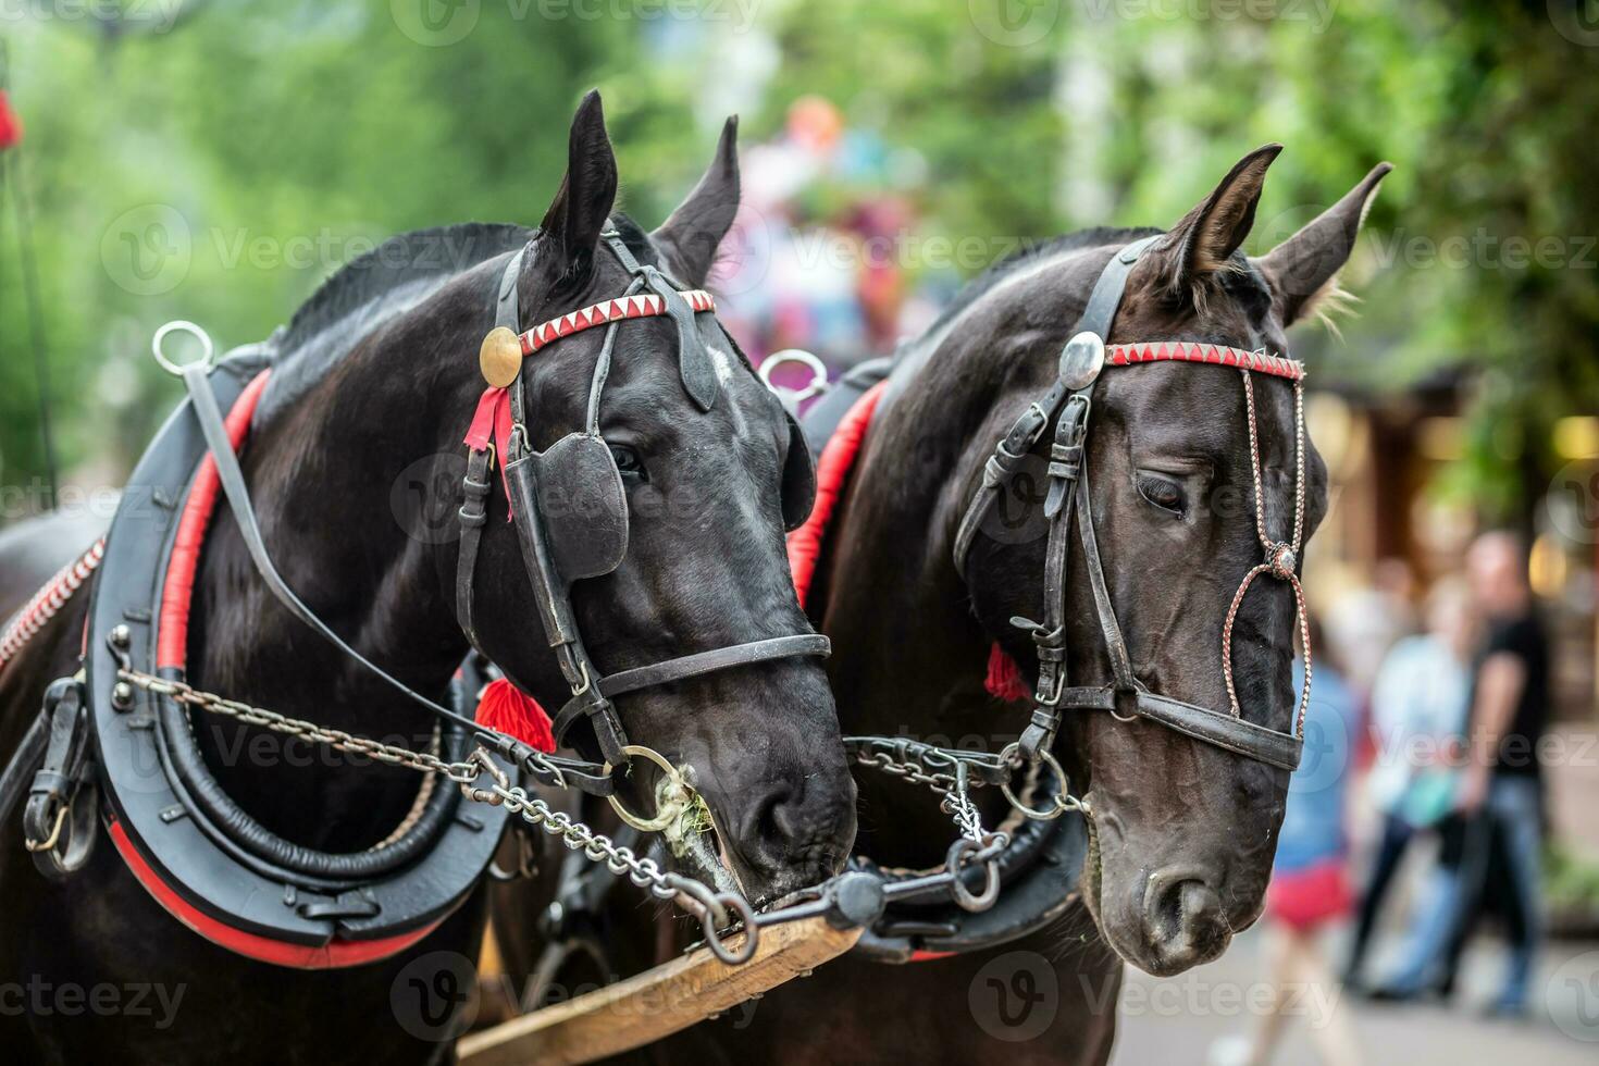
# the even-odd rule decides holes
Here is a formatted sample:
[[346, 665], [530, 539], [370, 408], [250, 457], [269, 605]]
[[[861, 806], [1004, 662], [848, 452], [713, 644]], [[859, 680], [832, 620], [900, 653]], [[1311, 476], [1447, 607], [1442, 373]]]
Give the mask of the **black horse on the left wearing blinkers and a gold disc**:
[[[462, 225], [395, 238], [341, 270], [264, 345], [273, 369], [241, 465], [265, 542], [321, 619], [430, 698], [446, 697], [469, 650], [456, 615], [459, 539], [417, 527], [397, 502], [413, 483], [443, 483], [449, 508], [459, 502], [461, 441], [483, 390], [478, 352], [502, 275], [521, 256], [518, 329], [620, 296], [641, 275], [603, 238], [611, 219], [638, 264], [700, 284], [737, 205], [734, 123], [710, 171], [656, 232], [611, 216], [616, 187], [590, 94], [571, 128], [566, 179], [537, 230]], [[788, 451], [801, 444], [712, 318], [696, 315], [688, 328], [699, 331], [720, 385], [710, 409], [686, 392], [684, 336], [673, 320], [641, 318], [616, 334], [598, 419], [625, 486], [627, 555], [609, 575], [572, 590], [588, 654], [606, 673], [811, 631], [784, 558], [780, 505]], [[584, 428], [604, 334], [572, 334], [526, 361], [534, 449]], [[539, 625], [499, 486], [496, 473], [477, 563], [478, 644], [524, 690], [558, 706], [569, 686]], [[78, 593], [5, 665], [0, 750], [16, 748], [46, 682], [78, 670], [88, 604]], [[217, 516], [200, 556], [187, 663], [193, 686], [293, 718], [409, 745], [433, 735], [422, 710], [269, 595], [230, 515]], [[854, 786], [817, 658], [726, 668], [617, 705], [633, 743], [694, 767], [721, 853], [752, 900], [843, 863]], [[193, 729], [237, 807], [305, 849], [373, 849], [419, 799], [419, 778], [406, 769], [304, 758], [296, 740], [200, 711]], [[459, 1013], [457, 986], [440, 984], [435, 961], [470, 969], [486, 909], [477, 890], [422, 940], [365, 965], [277, 967], [184, 929], [107, 844], [75, 874], [46, 881], [27, 861], [16, 818], [0, 826], [0, 892], [10, 916], [0, 972], [34, 996], [22, 1013], [0, 1016], [19, 1061], [443, 1058], [449, 1045], [440, 1040], [454, 1029], [427, 1018], [419, 1031], [405, 1012]], [[417, 1007], [417, 991], [443, 1000]]]

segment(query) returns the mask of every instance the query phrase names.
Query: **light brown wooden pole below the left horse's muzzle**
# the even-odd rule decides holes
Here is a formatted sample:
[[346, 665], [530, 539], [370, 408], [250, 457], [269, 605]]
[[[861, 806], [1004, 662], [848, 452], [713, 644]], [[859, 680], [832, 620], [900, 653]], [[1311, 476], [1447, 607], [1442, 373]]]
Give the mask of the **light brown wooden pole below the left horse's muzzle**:
[[[731, 1010], [855, 946], [862, 929], [809, 917], [761, 930], [755, 957], [728, 965], [707, 948], [569, 1002], [461, 1039], [462, 1066], [590, 1063]], [[734, 945], [737, 951], [737, 946]]]

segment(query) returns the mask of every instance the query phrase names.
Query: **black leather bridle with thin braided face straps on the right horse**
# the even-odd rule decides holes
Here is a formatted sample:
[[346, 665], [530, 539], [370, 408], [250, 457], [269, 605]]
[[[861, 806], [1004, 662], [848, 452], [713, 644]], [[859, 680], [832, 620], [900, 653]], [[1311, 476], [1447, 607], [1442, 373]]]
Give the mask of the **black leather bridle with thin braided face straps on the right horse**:
[[[1310, 623], [1305, 614], [1305, 595], [1300, 588], [1297, 567], [1305, 534], [1305, 395], [1303, 364], [1266, 352], [1246, 352], [1225, 345], [1186, 340], [1107, 345], [1111, 321], [1121, 307], [1127, 278], [1140, 256], [1164, 233], [1137, 240], [1111, 256], [1089, 296], [1087, 307], [1078, 320], [1071, 340], [1060, 353], [1055, 382], [1039, 400], [1022, 414], [999, 440], [993, 455], [983, 467], [982, 483], [967, 507], [955, 535], [955, 567], [966, 579], [966, 558], [988, 513], [1011, 486], [1022, 462], [1033, 451], [1051, 422], [1055, 425], [1049, 449], [1049, 491], [1044, 497], [1044, 516], [1049, 519], [1049, 542], [1044, 551], [1044, 619], [1012, 619], [1012, 625], [1027, 630], [1038, 652], [1038, 686], [1033, 694], [1033, 714], [1019, 742], [1020, 753], [1039, 759], [1051, 751], [1060, 730], [1065, 710], [1110, 711], [1121, 718], [1118, 697], [1132, 711], [1169, 729], [1215, 745], [1234, 754], [1294, 770], [1298, 767], [1303, 748], [1305, 706], [1310, 702], [1311, 655]], [[1137, 366], [1151, 361], [1209, 363], [1238, 368], [1244, 380], [1244, 400], [1249, 417], [1249, 455], [1255, 492], [1255, 534], [1265, 551], [1265, 561], [1252, 567], [1233, 595], [1222, 628], [1222, 673], [1226, 681], [1228, 713], [1207, 706], [1185, 703], [1151, 692], [1137, 678], [1127, 644], [1116, 620], [1116, 607], [1110, 599], [1105, 567], [1100, 561], [1099, 539], [1094, 531], [1094, 500], [1089, 487], [1084, 446], [1089, 414], [1092, 411], [1094, 385], [1107, 366]], [[1295, 425], [1295, 489], [1294, 529], [1287, 540], [1273, 540], [1265, 526], [1265, 500], [1260, 479], [1260, 432], [1255, 417], [1255, 393], [1250, 374], [1262, 372], [1294, 382]], [[1083, 543], [1084, 567], [1094, 595], [1094, 609], [1111, 666], [1111, 682], [1103, 687], [1071, 687], [1067, 684], [1067, 579], [1070, 532], [1076, 516], [1078, 535]], [[1233, 623], [1249, 587], [1262, 574], [1287, 582], [1294, 590], [1295, 620], [1300, 642], [1305, 649], [1305, 684], [1300, 692], [1300, 710], [1292, 734], [1278, 732], [1246, 721], [1238, 703], [1233, 682]]]

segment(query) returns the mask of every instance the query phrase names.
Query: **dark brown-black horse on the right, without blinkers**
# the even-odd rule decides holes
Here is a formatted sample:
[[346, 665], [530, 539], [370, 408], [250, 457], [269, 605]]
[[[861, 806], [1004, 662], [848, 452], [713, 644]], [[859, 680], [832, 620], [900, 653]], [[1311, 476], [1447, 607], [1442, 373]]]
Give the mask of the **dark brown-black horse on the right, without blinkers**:
[[[998, 751], [1025, 718], [985, 692], [995, 646], [1031, 687], [1044, 617], [1044, 435], [1003, 515], [953, 561], [958, 529], [995, 441], [1060, 372], [1062, 345], [1107, 264], [1156, 240], [1127, 278], [1107, 340], [1202, 340], [1282, 355], [1284, 329], [1335, 299], [1386, 165], [1270, 254], [1250, 259], [1262, 182], [1278, 147], [1246, 157], [1164, 237], [1087, 230], [1019, 254], [974, 281], [902, 348], [817, 558], [806, 609], [838, 654], [828, 673], [846, 735], [908, 735]], [[1239, 371], [1151, 363], [1107, 369], [1084, 443], [1108, 598], [1134, 673], [1154, 692], [1228, 706], [1220, 646], [1241, 580], [1260, 564], [1249, 433], [1258, 424], [1258, 507], [1287, 535], [1295, 513], [1295, 390], [1255, 374], [1250, 417]], [[1033, 476], [1036, 475], [1036, 476]], [[1305, 452], [1303, 535], [1326, 510], [1326, 470]], [[1073, 535], [1076, 542], [1076, 535]], [[1102, 623], [1073, 543], [1067, 674], [1111, 681]], [[1242, 718], [1294, 729], [1294, 596], [1266, 585], [1233, 623]], [[1089, 817], [1078, 901], [993, 948], [886, 967], [855, 954], [644, 1052], [651, 1061], [1103, 1063], [1122, 961], [1170, 975], [1217, 957], [1260, 914], [1287, 772], [1135, 714], [1068, 713], [1057, 753]], [[948, 815], [924, 788], [860, 774], [859, 850], [881, 865], [935, 868]], [[977, 793], [985, 825], [1007, 805]], [[1035, 801], [1036, 802], [1036, 801]], [[1012, 828], [1015, 818], [1012, 815]], [[1001, 906], [1004, 897], [1001, 897]], [[617, 911], [624, 908], [614, 908]], [[636, 933], [635, 933], [636, 937]], [[630, 943], [617, 938], [612, 946]]]

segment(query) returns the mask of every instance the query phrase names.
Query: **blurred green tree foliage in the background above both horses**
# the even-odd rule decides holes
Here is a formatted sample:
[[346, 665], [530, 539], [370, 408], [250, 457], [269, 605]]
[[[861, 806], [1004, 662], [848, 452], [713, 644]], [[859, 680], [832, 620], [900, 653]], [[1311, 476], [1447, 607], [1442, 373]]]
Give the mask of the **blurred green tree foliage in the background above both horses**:
[[[125, 463], [165, 414], [174, 390], [142, 356], [155, 324], [257, 339], [389, 233], [536, 222], [593, 85], [627, 206], [649, 222], [704, 165], [720, 120], [707, 105], [734, 82], [750, 93], [745, 144], [819, 93], [919, 153], [931, 235], [1170, 224], [1244, 152], [1281, 141], [1258, 253], [1386, 158], [1398, 169], [1348, 270], [1361, 313], [1342, 344], [1297, 339], [1318, 374], [1401, 388], [1466, 371], [1474, 425], [1450, 476], [1506, 513], [1554, 462], [1551, 422], [1599, 411], [1599, 32], [1577, 3], [672, 8], [696, 21], [644, 0], [528, 0], [469, 5], [475, 29], [448, 45], [408, 35], [403, 6], [217, 0], [165, 34], [0, 27], [69, 457]], [[753, 26], [721, 18], [740, 11]], [[752, 54], [768, 69], [739, 75]], [[16, 483], [40, 452], [10, 213], [0, 264], [0, 478]]]

